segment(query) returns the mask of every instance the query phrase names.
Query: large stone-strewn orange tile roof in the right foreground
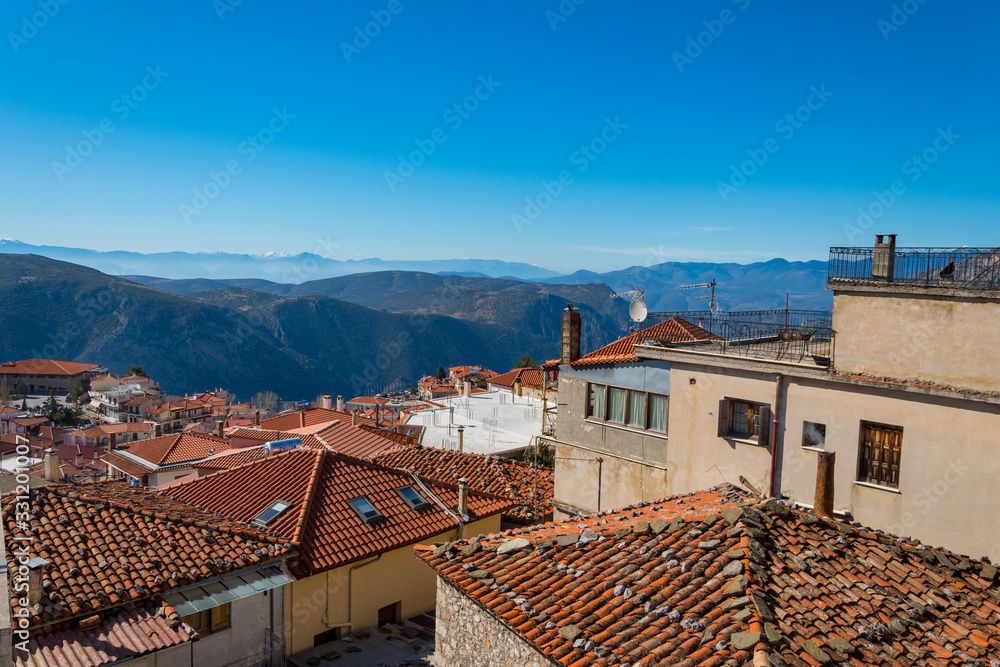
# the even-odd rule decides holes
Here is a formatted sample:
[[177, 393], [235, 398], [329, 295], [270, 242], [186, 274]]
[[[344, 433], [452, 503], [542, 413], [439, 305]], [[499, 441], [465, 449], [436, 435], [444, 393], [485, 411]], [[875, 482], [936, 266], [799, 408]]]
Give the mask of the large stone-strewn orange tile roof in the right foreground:
[[468, 544], [416, 551], [562, 665], [1000, 658], [992, 565], [731, 487]]

